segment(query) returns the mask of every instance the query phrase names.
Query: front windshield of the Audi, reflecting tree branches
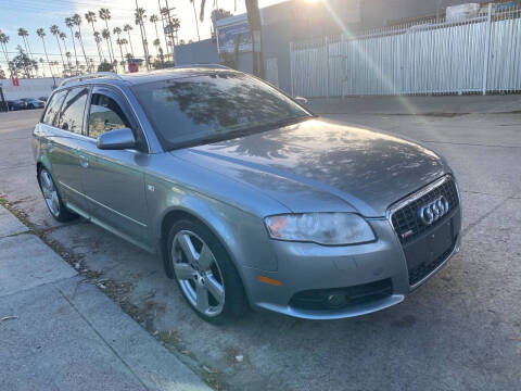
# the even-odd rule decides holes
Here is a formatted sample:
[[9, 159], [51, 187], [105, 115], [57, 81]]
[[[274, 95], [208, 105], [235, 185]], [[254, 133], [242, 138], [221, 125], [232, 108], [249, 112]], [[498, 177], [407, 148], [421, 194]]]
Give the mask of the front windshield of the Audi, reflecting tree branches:
[[149, 83], [132, 90], [168, 149], [310, 117], [269, 85], [230, 71]]

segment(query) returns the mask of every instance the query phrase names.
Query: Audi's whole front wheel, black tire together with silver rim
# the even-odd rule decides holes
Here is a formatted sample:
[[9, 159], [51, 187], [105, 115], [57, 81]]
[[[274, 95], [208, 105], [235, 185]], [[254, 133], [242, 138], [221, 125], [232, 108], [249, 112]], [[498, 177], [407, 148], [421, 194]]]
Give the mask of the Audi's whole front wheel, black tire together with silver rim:
[[[185, 300], [201, 318], [220, 325], [244, 314], [246, 298], [239, 274], [224, 245], [204, 224], [190, 218], [176, 222], [168, 232], [167, 250], [166, 273], [174, 276]], [[187, 255], [189, 252], [192, 255]], [[199, 258], [193, 256], [198, 253]], [[221, 291], [216, 289], [219, 286], [221, 302]], [[205, 299], [200, 300], [200, 294]]]

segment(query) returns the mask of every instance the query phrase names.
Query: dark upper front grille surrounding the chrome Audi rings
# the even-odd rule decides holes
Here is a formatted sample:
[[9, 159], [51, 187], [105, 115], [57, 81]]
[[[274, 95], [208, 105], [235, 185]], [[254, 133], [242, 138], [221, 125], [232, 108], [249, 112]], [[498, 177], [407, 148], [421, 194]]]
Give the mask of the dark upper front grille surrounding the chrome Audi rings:
[[447, 179], [439, 187], [435, 187], [420, 198], [414, 199], [411, 202], [393, 211], [391, 223], [393, 224], [394, 230], [402, 244], [410, 242], [421, 234], [434, 229], [437, 225], [444, 223], [448, 214], [434, 222], [432, 225], [425, 225], [420, 219], [420, 209], [429, 202], [434, 201], [440, 195], [445, 197], [448, 201], [449, 211], [458, 207], [459, 197], [456, 184], [452, 177], [447, 177]]

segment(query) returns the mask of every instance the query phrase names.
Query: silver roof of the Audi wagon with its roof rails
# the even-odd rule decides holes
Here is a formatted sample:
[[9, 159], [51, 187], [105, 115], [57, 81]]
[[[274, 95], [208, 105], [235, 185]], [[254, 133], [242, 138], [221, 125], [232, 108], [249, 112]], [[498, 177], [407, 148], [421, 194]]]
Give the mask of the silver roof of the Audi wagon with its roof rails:
[[99, 84], [100, 81], [102, 81], [103, 84], [114, 84], [114, 85], [124, 84], [127, 86], [128, 85], [136, 86], [136, 85], [141, 85], [147, 83], [185, 78], [185, 77], [199, 76], [199, 75], [229, 73], [229, 72], [240, 73], [238, 71], [231, 70], [223, 65], [190, 65], [190, 66], [181, 66], [181, 67], [157, 70], [157, 71], [150, 71], [150, 72], [140, 72], [140, 73], [132, 73], [132, 74], [124, 74], [124, 75], [103, 72], [103, 73], [82, 75], [82, 76], [65, 79], [62, 81], [59, 89], [62, 89], [62, 87], [65, 88], [65, 87], [72, 87], [72, 86], [78, 86], [78, 85]]

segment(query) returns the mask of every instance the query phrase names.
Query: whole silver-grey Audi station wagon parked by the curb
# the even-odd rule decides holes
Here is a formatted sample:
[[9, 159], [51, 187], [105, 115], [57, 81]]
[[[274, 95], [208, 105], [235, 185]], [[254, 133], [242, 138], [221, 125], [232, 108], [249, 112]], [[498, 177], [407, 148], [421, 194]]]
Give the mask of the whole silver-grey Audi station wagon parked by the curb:
[[310, 319], [397, 304], [459, 250], [447, 163], [221, 66], [67, 79], [34, 130], [60, 222], [156, 253], [188, 304]]

